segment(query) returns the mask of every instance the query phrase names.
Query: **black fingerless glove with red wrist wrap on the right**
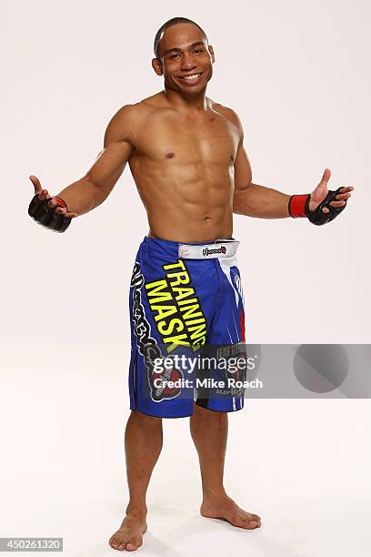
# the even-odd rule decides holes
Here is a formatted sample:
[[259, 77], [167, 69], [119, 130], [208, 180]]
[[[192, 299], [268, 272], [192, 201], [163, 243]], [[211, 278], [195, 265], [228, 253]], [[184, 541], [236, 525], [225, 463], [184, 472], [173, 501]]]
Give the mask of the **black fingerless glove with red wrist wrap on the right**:
[[[293, 218], [307, 217], [311, 223], [318, 226], [327, 224], [327, 222], [334, 220], [346, 208], [346, 205], [341, 207], [332, 207], [330, 205], [330, 201], [336, 201], [336, 196], [340, 193], [340, 189], [341, 187], [338, 187], [335, 191], [330, 189], [325, 199], [321, 201], [314, 211], [309, 210], [310, 194], [291, 196], [288, 201], [288, 212]], [[346, 199], [344, 201], [346, 202]], [[322, 208], [324, 207], [328, 208], [328, 213], [323, 212]]]

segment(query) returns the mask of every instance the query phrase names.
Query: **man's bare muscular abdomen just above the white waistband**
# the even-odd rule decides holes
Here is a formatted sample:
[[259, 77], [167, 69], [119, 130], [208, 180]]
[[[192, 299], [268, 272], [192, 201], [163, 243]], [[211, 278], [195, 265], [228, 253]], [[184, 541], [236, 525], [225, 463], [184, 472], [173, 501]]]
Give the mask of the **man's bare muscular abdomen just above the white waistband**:
[[185, 243], [231, 238], [233, 177], [227, 167], [166, 167], [149, 160], [130, 166], [147, 212], [148, 237]]

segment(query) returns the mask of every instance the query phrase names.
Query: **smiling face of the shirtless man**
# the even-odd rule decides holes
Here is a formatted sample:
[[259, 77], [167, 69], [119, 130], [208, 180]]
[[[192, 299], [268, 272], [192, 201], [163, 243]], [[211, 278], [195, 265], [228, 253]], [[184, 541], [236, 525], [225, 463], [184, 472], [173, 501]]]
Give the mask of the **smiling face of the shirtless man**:
[[[152, 66], [165, 85], [186, 95], [206, 88], [213, 75], [214, 52], [206, 38], [192, 24], [176, 24], [165, 30]], [[188, 77], [187, 77], [188, 76]]]

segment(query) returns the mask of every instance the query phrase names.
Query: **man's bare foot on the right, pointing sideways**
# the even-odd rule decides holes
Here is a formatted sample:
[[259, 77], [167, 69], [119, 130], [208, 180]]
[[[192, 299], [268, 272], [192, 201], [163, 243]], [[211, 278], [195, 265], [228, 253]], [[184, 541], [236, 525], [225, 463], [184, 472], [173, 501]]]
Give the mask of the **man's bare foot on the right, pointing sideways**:
[[206, 518], [221, 519], [230, 522], [232, 526], [254, 530], [260, 528], [260, 517], [257, 514], [244, 511], [227, 495], [213, 496], [205, 499], [201, 505], [201, 514]]

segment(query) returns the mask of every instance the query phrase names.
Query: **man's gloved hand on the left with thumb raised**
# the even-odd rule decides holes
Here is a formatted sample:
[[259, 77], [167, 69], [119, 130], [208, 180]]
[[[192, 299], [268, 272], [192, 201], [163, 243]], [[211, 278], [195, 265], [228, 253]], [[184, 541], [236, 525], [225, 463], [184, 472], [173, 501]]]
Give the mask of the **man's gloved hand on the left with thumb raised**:
[[47, 189], [41, 187], [37, 177], [30, 176], [30, 180], [35, 188], [35, 197], [32, 198], [28, 208], [29, 216], [45, 228], [55, 232], [65, 232], [71, 219], [77, 217], [77, 214], [68, 211], [61, 197], [50, 196]]

